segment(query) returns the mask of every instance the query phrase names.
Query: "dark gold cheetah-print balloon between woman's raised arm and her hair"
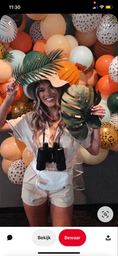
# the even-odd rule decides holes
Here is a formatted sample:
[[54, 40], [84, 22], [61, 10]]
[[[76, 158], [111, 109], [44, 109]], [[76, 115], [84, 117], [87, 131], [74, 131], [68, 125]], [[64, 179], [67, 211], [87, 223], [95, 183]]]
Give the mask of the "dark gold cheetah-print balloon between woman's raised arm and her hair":
[[31, 106], [26, 102], [17, 101], [14, 103], [11, 109], [11, 116], [13, 119], [32, 111]]

